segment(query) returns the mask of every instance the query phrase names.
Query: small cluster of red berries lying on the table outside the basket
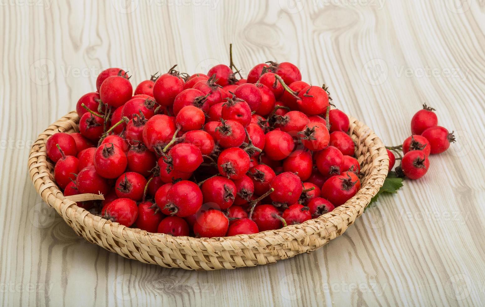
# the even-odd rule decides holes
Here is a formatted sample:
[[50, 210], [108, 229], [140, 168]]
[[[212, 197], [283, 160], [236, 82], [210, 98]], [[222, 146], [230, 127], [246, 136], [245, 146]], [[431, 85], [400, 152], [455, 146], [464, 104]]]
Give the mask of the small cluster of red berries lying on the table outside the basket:
[[[438, 118], [433, 108], [423, 105], [423, 109], [411, 119], [411, 136], [402, 145], [386, 147], [389, 155], [389, 171], [396, 160], [401, 164], [396, 167], [397, 177], [419, 179], [429, 168], [429, 155], [440, 154], [455, 142], [453, 132], [438, 126]], [[400, 153], [403, 152], [404, 156]], [[395, 152], [398, 155], [394, 155]]]

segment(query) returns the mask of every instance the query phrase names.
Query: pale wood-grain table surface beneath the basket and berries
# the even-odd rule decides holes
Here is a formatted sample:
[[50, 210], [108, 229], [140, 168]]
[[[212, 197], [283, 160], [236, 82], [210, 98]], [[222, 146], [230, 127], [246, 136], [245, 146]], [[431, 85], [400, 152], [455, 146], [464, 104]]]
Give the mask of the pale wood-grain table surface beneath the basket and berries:
[[[8, 0], [0, 6], [0, 302], [5, 306], [485, 304], [485, 1]], [[295, 5], [296, 4], [296, 5]], [[310, 255], [217, 272], [124, 259], [36, 194], [36, 136], [119, 66], [247, 73], [291, 61], [388, 145], [426, 102], [457, 143]]]

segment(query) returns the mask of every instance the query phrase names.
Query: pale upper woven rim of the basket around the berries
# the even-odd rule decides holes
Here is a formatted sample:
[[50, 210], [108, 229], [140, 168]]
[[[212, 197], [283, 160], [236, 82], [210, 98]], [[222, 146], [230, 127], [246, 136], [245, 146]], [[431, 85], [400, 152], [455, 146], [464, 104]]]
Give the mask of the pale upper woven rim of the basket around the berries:
[[[194, 238], [185, 236], [173, 237], [167, 234], [149, 233], [145, 230], [129, 228], [116, 222], [108, 221], [78, 207], [74, 201], [65, 198], [63, 192], [52, 181], [52, 172], [49, 172], [49, 167], [43, 166], [43, 164], [51, 163], [47, 158], [45, 144], [47, 138], [53, 133], [65, 132], [73, 129], [74, 131], [78, 132], [77, 123], [79, 122], [79, 116], [75, 111], [66, 114], [58, 121], [50, 125], [43, 133], [39, 134], [38, 139], [34, 142], [34, 145], [32, 145], [28, 166], [32, 182], [37, 192], [49, 204], [50, 207], [54, 208], [63, 217], [63, 219], [65, 219], [65, 221], [74, 228], [78, 234], [79, 231], [76, 229], [76, 225], [69, 223], [69, 221], [76, 221], [76, 223], [80, 223], [83, 226], [87, 225], [94, 227], [94, 225], [97, 224], [97, 228], [102, 229], [104, 234], [115, 234], [115, 237], [120, 237], [120, 239], [122, 238], [123, 240], [139, 242], [140, 244], [157, 245], [161, 243], [176, 246], [178, 248], [193, 248], [194, 250], [213, 249], [214, 251], [217, 251], [227, 249], [228, 246], [232, 246], [231, 248], [233, 249], [244, 249], [248, 248], [248, 246], [258, 245], [258, 242], [255, 240], [267, 240], [268, 242], [271, 242], [271, 240], [268, 240], [271, 237], [275, 237], [277, 242], [285, 242], [290, 239], [304, 240], [309, 235], [321, 233], [323, 230], [322, 226], [324, 228], [324, 232], [326, 233], [321, 234], [321, 236], [324, 236], [325, 238], [330, 236], [328, 240], [331, 240], [333, 239], [333, 232], [335, 232], [333, 226], [338, 229], [338, 224], [345, 220], [350, 221], [349, 225], [351, 225], [355, 219], [362, 214], [363, 209], [370, 202], [370, 199], [375, 196], [375, 194], [382, 187], [382, 184], [384, 183], [384, 180], [388, 174], [388, 155], [382, 141], [374, 134], [374, 132], [372, 132], [369, 127], [360, 123], [356, 118], [349, 117], [349, 119], [351, 123], [351, 132], [353, 129], [358, 127], [359, 131], [364, 131], [363, 135], [360, 136], [360, 139], [366, 142], [367, 139], [370, 139], [369, 142], [372, 142], [372, 148], [373, 151], [375, 151], [375, 154], [372, 156], [372, 164], [374, 164], [374, 162], [378, 162], [372, 165], [370, 174], [365, 177], [368, 180], [365, 180], [365, 183], [362, 184], [362, 187], [358, 193], [345, 204], [335, 208], [335, 210], [329, 213], [323, 214], [318, 218], [308, 220], [299, 225], [289, 225], [280, 229], [266, 230], [252, 235]], [[353, 138], [356, 140], [354, 136]], [[358, 155], [359, 153], [357, 152], [357, 156]], [[367, 167], [367, 165], [364, 165], [363, 167]], [[45, 170], [39, 171], [43, 168], [47, 169], [47, 175], [44, 174]], [[346, 228], [347, 227], [345, 227], [345, 229]], [[343, 231], [345, 231], [345, 229], [343, 229]], [[336, 236], [343, 233], [343, 231], [336, 234]], [[289, 233], [291, 233], [291, 235], [289, 235]], [[100, 245], [99, 242], [97, 242], [97, 244]], [[100, 246], [105, 247], [103, 245]], [[313, 249], [310, 248], [307, 250], [307, 252], [312, 250]], [[120, 253], [118, 252], [118, 254]], [[126, 257], [126, 255], [122, 256]]]

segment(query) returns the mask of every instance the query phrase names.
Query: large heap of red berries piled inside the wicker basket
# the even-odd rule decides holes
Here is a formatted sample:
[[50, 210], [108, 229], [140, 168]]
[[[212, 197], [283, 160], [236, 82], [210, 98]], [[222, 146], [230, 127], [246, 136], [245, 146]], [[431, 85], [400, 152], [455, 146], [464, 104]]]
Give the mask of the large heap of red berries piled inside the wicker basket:
[[[237, 77], [241, 79], [238, 79]], [[288, 84], [288, 85], [287, 85]], [[47, 140], [65, 196], [102, 217], [173, 236], [222, 237], [318, 217], [360, 189], [349, 119], [295, 65], [267, 62], [247, 79], [232, 64], [138, 84], [99, 74], [77, 104], [80, 133]]]

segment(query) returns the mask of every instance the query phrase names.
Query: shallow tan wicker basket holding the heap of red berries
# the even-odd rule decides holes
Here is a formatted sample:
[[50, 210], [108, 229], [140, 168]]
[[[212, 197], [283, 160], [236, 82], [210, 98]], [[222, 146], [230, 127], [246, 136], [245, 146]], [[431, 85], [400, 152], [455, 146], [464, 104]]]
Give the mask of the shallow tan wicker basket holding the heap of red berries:
[[350, 118], [356, 156], [363, 165], [362, 188], [344, 205], [300, 225], [253, 235], [224, 238], [172, 237], [113, 223], [79, 208], [63, 196], [53, 180], [46, 139], [55, 132], [77, 132], [79, 116], [71, 112], [39, 135], [29, 156], [33, 185], [77, 234], [87, 241], [129, 259], [187, 270], [234, 269], [275, 263], [310, 253], [341, 235], [359, 217], [388, 174], [388, 155], [381, 140], [363, 123]]

